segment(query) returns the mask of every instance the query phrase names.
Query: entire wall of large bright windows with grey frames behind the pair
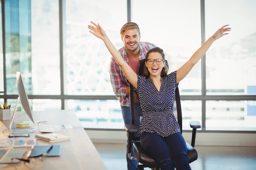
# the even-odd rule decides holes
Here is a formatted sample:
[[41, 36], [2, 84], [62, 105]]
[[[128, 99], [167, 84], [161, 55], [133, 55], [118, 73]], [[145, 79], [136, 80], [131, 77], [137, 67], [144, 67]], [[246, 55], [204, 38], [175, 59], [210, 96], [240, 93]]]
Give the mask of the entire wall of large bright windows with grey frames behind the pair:
[[32, 110], [75, 110], [85, 128], [123, 129], [110, 84], [111, 55], [89, 33], [90, 21], [103, 26], [117, 49], [124, 45], [121, 26], [136, 22], [141, 41], [164, 49], [169, 72], [230, 24], [230, 34], [214, 42], [179, 84], [183, 125], [190, 129], [193, 119], [202, 130], [256, 131], [254, 0], [2, 0], [1, 5], [0, 104], [14, 107], [21, 71]]

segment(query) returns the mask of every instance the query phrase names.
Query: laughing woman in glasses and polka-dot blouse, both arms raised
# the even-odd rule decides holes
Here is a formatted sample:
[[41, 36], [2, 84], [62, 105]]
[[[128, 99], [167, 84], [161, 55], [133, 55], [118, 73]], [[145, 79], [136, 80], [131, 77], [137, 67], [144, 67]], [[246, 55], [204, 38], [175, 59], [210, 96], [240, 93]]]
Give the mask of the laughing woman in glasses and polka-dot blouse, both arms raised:
[[[191, 71], [193, 66], [206, 53], [211, 44], [228, 34], [231, 28], [222, 26], [214, 33], [191, 58], [177, 71], [167, 75], [168, 68], [164, 52], [159, 47], [148, 51], [144, 76], [137, 75], [123, 60], [99, 24], [91, 22], [90, 33], [103, 40], [108, 51], [120, 66], [128, 81], [135, 87], [142, 109], [139, 127], [141, 146], [155, 159], [161, 170], [191, 170], [187, 158], [186, 143], [180, 133], [180, 127], [173, 115], [175, 88]], [[174, 165], [175, 163], [175, 165]]]

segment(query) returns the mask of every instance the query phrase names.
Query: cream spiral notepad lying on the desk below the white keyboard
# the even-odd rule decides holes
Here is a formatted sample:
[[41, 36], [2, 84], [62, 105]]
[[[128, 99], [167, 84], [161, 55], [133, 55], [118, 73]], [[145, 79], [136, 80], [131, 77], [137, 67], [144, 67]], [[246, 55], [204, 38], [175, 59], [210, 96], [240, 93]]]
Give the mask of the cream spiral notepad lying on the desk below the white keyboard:
[[69, 136], [62, 135], [59, 133], [38, 134], [38, 135], [35, 135], [35, 138], [43, 141], [49, 141], [49, 142], [65, 141], [70, 139]]

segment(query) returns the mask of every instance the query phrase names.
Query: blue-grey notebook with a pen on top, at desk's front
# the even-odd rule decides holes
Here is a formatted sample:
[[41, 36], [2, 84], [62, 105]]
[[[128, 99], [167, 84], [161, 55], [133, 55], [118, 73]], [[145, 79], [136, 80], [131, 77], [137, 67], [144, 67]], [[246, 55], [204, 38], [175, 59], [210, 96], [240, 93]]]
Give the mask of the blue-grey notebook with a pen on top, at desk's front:
[[34, 146], [31, 150], [30, 157], [38, 157], [40, 155], [45, 155], [47, 157], [49, 157], [49, 156], [60, 156], [61, 155], [61, 149], [62, 149], [61, 145]]

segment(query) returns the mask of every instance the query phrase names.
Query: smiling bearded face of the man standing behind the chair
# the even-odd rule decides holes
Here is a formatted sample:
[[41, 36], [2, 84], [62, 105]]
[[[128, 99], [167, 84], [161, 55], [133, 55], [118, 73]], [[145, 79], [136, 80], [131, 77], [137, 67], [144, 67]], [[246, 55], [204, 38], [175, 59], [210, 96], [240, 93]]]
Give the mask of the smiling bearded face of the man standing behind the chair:
[[137, 29], [128, 29], [124, 31], [122, 40], [127, 51], [137, 52], [139, 50], [140, 36]]

